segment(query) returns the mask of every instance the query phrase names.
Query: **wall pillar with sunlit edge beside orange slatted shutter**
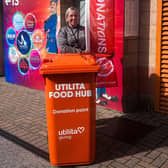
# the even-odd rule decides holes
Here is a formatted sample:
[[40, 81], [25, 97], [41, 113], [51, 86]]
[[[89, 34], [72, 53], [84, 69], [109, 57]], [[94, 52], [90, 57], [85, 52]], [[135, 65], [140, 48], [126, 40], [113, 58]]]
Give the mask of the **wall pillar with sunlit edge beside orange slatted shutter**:
[[138, 78], [141, 106], [153, 110], [155, 97], [157, 0], [140, 1]]

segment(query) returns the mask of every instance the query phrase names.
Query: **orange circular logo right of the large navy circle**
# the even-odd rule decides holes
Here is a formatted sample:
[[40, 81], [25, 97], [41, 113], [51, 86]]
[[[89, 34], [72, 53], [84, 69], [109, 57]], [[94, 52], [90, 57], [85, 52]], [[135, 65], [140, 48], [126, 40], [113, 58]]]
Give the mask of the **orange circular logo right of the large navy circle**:
[[32, 35], [32, 43], [36, 49], [41, 49], [44, 41], [44, 33], [41, 30], [36, 30]]

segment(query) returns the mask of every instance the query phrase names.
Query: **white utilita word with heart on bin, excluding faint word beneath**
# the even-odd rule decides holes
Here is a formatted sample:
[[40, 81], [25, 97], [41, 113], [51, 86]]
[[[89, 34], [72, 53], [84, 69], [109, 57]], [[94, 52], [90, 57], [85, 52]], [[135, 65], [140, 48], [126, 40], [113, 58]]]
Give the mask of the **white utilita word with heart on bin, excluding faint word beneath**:
[[85, 127], [78, 127], [76, 129], [63, 129], [61, 131], [58, 131], [59, 136], [64, 135], [76, 135], [76, 134], [82, 134], [85, 132]]

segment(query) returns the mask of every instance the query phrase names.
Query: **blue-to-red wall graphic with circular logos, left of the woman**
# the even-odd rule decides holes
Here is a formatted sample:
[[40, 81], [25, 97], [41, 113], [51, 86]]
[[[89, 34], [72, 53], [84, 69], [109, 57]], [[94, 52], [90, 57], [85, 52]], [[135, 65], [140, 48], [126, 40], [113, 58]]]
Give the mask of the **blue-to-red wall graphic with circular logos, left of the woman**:
[[5, 77], [8, 82], [44, 89], [39, 67], [44, 51], [57, 53], [60, 5], [57, 0], [3, 0]]

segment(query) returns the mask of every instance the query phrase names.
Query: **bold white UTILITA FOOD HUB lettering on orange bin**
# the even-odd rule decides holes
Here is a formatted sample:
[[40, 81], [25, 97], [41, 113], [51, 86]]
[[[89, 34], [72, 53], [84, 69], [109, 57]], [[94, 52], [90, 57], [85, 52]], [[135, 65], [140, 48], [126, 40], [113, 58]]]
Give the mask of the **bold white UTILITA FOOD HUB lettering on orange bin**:
[[55, 84], [55, 91], [48, 92], [49, 98], [91, 97], [92, 91], [87, 90], [84, 83]]

